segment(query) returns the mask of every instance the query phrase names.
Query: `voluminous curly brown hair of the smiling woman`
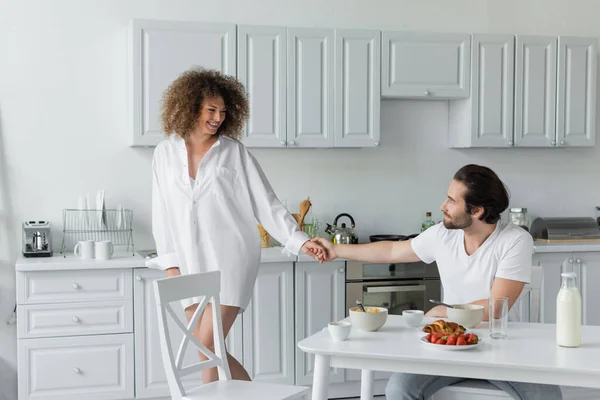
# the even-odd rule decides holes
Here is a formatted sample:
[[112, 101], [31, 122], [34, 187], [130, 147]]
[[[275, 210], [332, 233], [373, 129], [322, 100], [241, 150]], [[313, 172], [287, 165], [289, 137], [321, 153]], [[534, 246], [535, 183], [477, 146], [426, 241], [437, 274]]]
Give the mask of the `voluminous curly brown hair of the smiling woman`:
[[187, 138], [196, 125], [204, 100], [218, 96], [223, 98], [227, 108], [219, 133], [240, 139], [250, 114], [244, 85], [233, 76], [202, 67], [185, 71], [164, 91], [161, 119], [165, 134]]

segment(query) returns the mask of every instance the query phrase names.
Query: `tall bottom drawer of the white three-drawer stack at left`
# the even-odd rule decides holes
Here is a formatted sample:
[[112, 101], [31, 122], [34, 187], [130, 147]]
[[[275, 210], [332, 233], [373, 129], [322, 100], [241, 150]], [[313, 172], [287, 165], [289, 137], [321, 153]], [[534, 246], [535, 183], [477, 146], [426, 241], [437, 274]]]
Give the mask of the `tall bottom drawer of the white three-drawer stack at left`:
[[133, 334], [19, 341], [19, 400], [134, 396]]

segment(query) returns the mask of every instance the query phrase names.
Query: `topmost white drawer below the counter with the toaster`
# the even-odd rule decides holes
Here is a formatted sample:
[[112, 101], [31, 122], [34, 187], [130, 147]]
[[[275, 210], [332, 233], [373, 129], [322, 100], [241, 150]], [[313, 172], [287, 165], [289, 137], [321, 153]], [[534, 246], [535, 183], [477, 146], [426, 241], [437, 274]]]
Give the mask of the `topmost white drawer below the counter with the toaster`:
[[131, 300], [131, 269], [17, 273], [19, 304]]

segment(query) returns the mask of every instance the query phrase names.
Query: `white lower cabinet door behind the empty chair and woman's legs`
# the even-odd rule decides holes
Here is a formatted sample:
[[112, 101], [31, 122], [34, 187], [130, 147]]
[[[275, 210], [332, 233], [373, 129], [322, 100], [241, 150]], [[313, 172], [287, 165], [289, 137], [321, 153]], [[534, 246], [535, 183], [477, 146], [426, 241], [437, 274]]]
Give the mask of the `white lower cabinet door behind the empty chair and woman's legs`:
[[[134, 269], [134, 323], [135, 323], [135, 386], [136, 398], [152, 398], [169, 396], [167, 378], [163, 369], [158, 337], [158, 320], [156, 302], [154, 299], [154, 280], [165, 277], [165, 271], [156, 269]], [[173, 309], [182, 321], [185, 313], [181, 307], [174, 305]], [[169, 332], [173, 343], [181, 342], [182, 334], [172, 319], [169, 318]], [[238, 361], [242, 362], [241, 353], [242, 318], [238, 317], [227, 337], [227, 350]], [[184, 365], [197, 362], [198, 352], [194, 346], [188, 346]], [[186, 387], [202, 384], [200, 373], [184, 378]]]

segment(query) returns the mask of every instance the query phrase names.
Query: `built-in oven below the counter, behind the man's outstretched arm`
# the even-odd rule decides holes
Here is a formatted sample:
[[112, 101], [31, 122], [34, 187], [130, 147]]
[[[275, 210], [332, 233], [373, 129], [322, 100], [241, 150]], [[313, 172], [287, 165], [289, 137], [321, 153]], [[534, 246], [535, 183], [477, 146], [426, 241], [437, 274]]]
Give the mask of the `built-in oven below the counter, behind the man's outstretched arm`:
[[404, 310], [429, 311], [429, 299], [441, 299], [442, 288], [436, 263], [377, 264], [348, 261], [346, 268], [346, 316], [356, 307], [385, 307], [389, 314]]

